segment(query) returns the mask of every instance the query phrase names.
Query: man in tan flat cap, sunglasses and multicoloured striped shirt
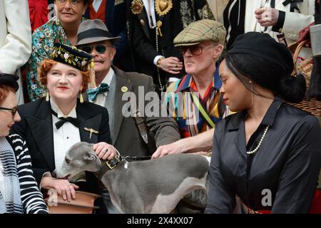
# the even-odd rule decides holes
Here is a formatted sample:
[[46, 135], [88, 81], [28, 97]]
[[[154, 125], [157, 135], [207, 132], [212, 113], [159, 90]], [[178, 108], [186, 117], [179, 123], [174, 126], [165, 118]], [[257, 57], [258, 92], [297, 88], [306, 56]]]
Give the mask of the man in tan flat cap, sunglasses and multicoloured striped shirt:
[[[181, 48], [184, 58], [186, 75], [176, 83], [168, 87], [168, 102], [173, 100], [175, 94], [183, 93], [183, 100], [191, 99], [190, 103], [175, 103], [173, 115], [180, 136], [186, 138], [174, 142], [170, 145], [158, 147], [153, 154], [153, 158], [163, 155], [185, 152], [190, 145], [189, 137], [210, 130], [206, 137], [193, 141], [195, 147], [193, 151], [210, 150], [213, 139], [215, 124], [228, 115], [219, 90], [222, 85], [218, 73], [218, 58], [223, 51], [226, 31], [222, 24], [217, 21], [203, 19], [189, 24], [174, 39], [174, 45]], [[177, 113], [184, 110], [184, 113]], [[188, 118], [188, 115], [198, 116], [198, 118]], [[207, 142], [209, 141], [209, 142]], [[200, 142], [200, 143], [198, 143]]]

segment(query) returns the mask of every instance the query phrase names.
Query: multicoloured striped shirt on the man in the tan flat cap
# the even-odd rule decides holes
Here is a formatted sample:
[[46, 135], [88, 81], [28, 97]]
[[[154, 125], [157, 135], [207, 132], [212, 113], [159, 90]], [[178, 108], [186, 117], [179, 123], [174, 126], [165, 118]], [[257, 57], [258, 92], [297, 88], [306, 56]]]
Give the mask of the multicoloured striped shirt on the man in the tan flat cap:
[[[218, 73], [218, 67], [213, 76], [213, 81], [205, 91], [203, 97], [200, 97], [198, 88], [189, 74], [185, 75], [175, 83], [174, 93], [166, 94], [166, 103], [172, 103], [173, 112], [169, 111], [169, 115], [173, 116], [178, 123], [180, 136], [188, 138], [198, 133], [203, 133], [212, 128], [208, 125], [208, 121], [200, 114], [199, 108], [193, 102], [191, 93], [195, 94], [207, 113], [208, 117], [213, 120], [214, 125], [223, 117], [230, 114], [228, 107], [223, 104], [219, 90], [222, 86], [222, 81]], [[179, 97], [180, 96], [180, 97]], [[168, 105], [169, 107], [169, 105]], [[170, 110], [170, 108], [168, 108]]]

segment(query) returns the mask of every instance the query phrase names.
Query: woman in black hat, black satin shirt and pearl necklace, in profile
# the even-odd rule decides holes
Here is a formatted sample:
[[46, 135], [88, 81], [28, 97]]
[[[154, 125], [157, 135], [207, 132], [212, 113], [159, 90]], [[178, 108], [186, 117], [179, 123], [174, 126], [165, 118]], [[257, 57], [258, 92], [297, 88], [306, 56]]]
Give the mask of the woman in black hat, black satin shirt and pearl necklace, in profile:
[[238, 36], [220, 64], [220, 92], [236, 111], [215, 128], [207, 213], [307, 213], [321, 165], [321, 130], [297, 103], [305, 81], [292, 56], [267, 34]]

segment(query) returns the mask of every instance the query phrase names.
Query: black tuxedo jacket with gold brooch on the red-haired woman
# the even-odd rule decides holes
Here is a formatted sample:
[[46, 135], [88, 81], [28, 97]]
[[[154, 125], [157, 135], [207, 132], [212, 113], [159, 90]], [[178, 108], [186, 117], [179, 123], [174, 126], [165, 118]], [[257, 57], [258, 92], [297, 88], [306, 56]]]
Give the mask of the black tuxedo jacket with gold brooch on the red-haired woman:
[[[54, 160], [54, 130], [52, 125], [51, 105], [44, 98], [31, 103], [20, 105], [18, 112], [21, 115], [21, 121], [16, 123], [11, 129], [11, 133], [21, 135], [26, 140], [29, 148], [31, 163], [34, 171], [34, 177], [38, 184], [44, 172], [53, 172], [55, 170]], [[96, 143], [111, 143], [111, 137], [108, 125], [108, 112], [106, 108], [93, 103], [80, 103], [76, 106], [77, 118], [80, 120], [81, 141]], [[98, 130], [98, 134], [92, 134], [85, 131], [84, 128], [93, 128]], [[86, 172], [86, 187], [88, 192], [99, 193], [96, 178], [89, 172]]]

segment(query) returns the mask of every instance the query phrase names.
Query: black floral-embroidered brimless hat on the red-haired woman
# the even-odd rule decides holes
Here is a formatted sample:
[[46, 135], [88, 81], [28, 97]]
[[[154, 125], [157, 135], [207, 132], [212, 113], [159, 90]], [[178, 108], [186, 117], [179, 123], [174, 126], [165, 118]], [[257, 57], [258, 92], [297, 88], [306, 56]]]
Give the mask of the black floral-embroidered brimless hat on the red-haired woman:
[[88, 64], [93, 57], [88, 53], [81, 51], [75, 46], [67, 46], [61, 43], [54, 43], [51, 59], [59, 63], [64, 63], [80, 71], [87, 71]]

